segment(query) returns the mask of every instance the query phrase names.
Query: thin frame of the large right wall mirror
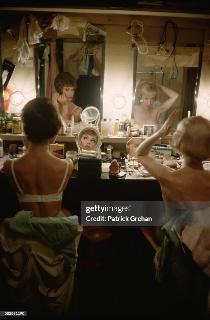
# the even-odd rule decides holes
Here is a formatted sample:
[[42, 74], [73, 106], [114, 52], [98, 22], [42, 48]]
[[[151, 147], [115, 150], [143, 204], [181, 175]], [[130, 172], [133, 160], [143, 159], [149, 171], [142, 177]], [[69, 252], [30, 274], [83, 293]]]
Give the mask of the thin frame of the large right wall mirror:
[[[144, 45], [144, 42], [138, 41], [137, 44]], [[157, 42], [148, 42], [149, 46], [158, 46], [159, 43]], [[171, 43], [165, 43], [166, 46], [173, 46]], [[199, 84], [200, 84], [200, 75], [201, 75], [201, 67], [202, 67], [202, 58], [203, 58], [203, 44], [188, 44], [188, 43], [177, 43], [177, 47], [199, 47], [200, 48], [200, 54], [199, 54], [199, 60], [198, 60], [198, 67], [197, 67], [197, 73], [196, 73], [196, 79], [195, 79], [195, 87], [193, 88], [194, 92], [194, 98], [193, 98], [193, 104], [188, 108], [188, 110], [191, 111], [191, 116], [196, 116], [196, 109], [197, 109], [197, 100], [198, 100], [198, 90], [199, 90]], [[134, 124], [134, 108], [135, 108], [135, 95], [136, 95], [136, 68], [137, 68], [137, 59], [138, 59], [138, 49], [135, 46], [134, 50], [134, 65], [133, 65], [133, 97], [132, 97], [132, 110], [131, 110], [131, 125]], [[149, 67], [148, 67], [149, 68]], [[152, 67], [151, 67], [152, 68]], [[166, 68], [166, 67], [165, 67]], [[179, 67], [179, 68], [188, 68], [191, 69], [191, 67]], [[196, 68], [196, 67], [193, 67]], [[164, 75], [163, 75], [164, 76]], [[184, 109], [183, 109], [184, 112]], [[186, 115], [182, 115], [182, 119], [184, 117], [187, 117]]]

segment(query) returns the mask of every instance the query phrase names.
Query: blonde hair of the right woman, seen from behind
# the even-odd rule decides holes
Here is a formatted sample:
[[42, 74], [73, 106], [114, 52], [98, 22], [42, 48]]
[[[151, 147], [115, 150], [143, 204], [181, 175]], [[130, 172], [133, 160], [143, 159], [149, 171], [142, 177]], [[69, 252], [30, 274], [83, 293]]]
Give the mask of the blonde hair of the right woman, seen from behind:
[[197, 161], [210, 158], [210, 121], [202, 116], [182, 119], [170, 145]]

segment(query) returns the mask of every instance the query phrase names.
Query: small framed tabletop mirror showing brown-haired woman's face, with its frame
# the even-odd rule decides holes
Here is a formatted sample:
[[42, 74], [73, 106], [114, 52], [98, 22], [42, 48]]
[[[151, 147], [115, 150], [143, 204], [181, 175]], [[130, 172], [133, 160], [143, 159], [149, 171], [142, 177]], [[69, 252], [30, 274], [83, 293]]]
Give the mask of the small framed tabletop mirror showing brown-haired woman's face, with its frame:
[[99, 153], [102, 139], [100, 132], [93, 127], [85, 127], [76, 136], [78, 155], [96, 157]]

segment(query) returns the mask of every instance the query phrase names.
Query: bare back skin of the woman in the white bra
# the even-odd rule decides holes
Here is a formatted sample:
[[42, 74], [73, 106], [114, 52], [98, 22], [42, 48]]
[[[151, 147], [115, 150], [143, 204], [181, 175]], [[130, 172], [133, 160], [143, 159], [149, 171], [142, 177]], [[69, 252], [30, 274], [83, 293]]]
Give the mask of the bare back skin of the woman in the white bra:
[[[13, 189], [19, 192], [12, 175], [11, 162], [10, 159], [4, 162], [4, 172]], [[65, 160], [56, 158], [50, 152], [43, 152], [42, 154], [26, 153], [14, 162], [14, 172], [20, 188], [24, 194], [29, 195], [57, 193], [65, 175], [66, 167]], [[72, 170], [73, 163], [69, 161], [69, 169], [62, 190], [67, 186]], [[21, 210], [33, 211], [35, 217], [53, 217], [60, 212], [61, 204], [62, 199], [51, 202], [20, 202], [20, 208]]]

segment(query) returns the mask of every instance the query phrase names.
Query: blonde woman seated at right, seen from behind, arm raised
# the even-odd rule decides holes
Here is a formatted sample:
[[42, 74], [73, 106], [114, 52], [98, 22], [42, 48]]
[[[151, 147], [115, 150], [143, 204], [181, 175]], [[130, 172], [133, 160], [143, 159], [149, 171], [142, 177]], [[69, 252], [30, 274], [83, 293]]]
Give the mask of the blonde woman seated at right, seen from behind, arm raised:
[[[187, 210], [203, 210], [205, 208], [203, 204], [206, 203], [206, 206], [209, 206], [210, 199], [210, 172], [206, 171], [202, 164], [202, 161], [210, 158], [210, 121], [202, 116], [192, 116], [178, 123], [170, 144], [182, 153], [184, 163], [180, 169], [174, 170], [149, 156], [149, 151], [155, 142], [168, 135], [172, 120], [180, 111], [181, 109], [174, 110], [162, 128], [139, 145], [136, 156], [159, 182], [164, 202], [173, 202], [178, 205], [180, 202], [188, 202]], [[194, 202], [200, 202], [202, 207], [195, 208]], [[189, 207], [190, 204], [192, 207]], [[179, 213], [178, 210], [166, 206], [165, 223], [177, 212]], [[153, 234], [152, 237], [155, 238], [157, 235]], [[157, 243], [154, 244], [154, 248], [157, 249], [157, 247]]]

